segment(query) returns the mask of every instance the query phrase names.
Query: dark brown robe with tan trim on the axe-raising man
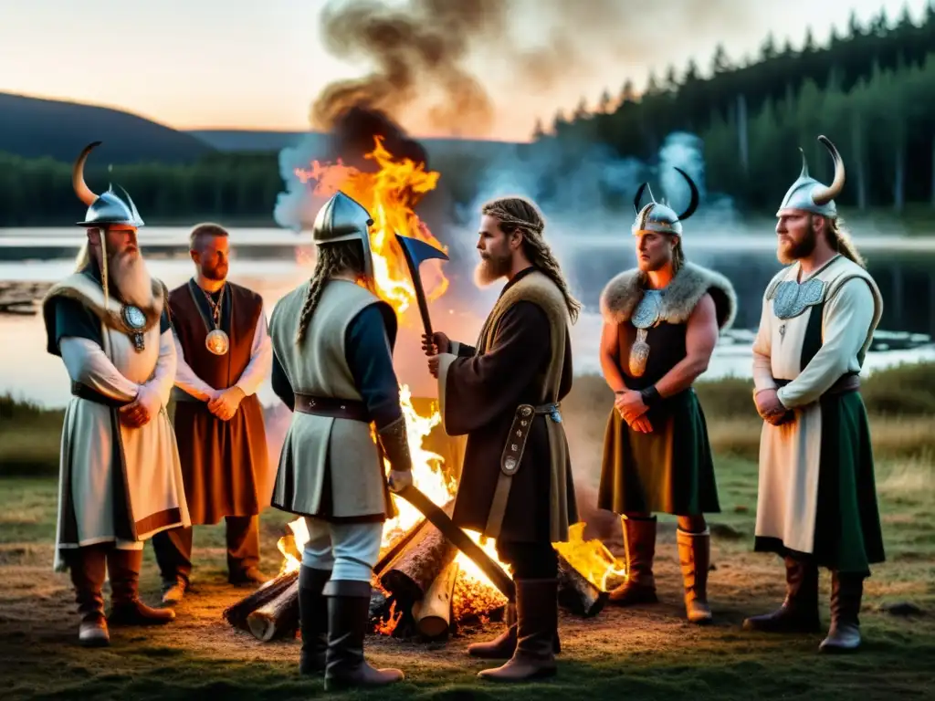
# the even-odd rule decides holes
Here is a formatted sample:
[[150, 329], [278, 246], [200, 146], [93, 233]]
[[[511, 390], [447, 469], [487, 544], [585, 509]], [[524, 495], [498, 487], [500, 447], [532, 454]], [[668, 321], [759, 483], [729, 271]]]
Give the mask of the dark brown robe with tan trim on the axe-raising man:
[[[453, 521], [503, 540], [567, 540], [578, 512], [564, 424], [557, 415], [559, 422], [537, 414], [522, 425], [517, 417], [521, 405], [557, 403], [571, 389], [562, 293], [537, 268], [527, 268], [504, 287], [477, 347], [456, 344], [453, 351], [439, 362], [442, 421], [450, 436], [468, 436]], [[509, 465], [523, 428], [525, 449], [506, 478], [501, 465]], [[504, 502], [496, 507], [498, 486], [505, 508]]]

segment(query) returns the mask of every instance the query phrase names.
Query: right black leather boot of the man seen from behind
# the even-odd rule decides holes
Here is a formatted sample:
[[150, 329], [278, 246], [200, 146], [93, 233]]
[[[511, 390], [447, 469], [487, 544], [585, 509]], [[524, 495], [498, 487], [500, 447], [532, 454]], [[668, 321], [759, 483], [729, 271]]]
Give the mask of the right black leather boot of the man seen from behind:
[[403, 679], [398, 669], [375, 669], [364, 658], [364, 637], [370, 617], [370, 582], [331, 579], [328, 597], [328, 651], [324, 690], [384, 686]]

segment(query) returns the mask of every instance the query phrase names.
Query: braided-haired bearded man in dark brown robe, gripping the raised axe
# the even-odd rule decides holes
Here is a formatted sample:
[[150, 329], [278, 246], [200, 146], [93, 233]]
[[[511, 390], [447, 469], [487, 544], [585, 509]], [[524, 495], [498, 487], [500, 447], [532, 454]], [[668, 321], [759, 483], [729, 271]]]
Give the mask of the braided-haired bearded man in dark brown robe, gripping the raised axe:
[[469, 651], [508, 659], [483, 670], [483, 679], [523, 681], [555, 674], [552, 544], [567, 541], [568, 524], [578, 520], [559, 402], [571, 389], [568, 325], [581, 305], [568, 293], [533, 203], [505, 197], [481, 213], [475, 280], [479, 286], [508, 282], [475, 346], [437, 333], [424, 337], [423, 347], [439, 379], [445, 432], [468, 436], [453, 521], [496, 538], [497, 554], [516, 582], [508, 629]]

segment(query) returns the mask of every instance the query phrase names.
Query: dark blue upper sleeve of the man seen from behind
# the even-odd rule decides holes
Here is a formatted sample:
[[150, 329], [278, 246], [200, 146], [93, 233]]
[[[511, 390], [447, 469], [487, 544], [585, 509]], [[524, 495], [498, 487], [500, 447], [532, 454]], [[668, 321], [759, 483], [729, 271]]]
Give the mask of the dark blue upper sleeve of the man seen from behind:
[[371, 305], [362, 310], [354, 317], [346, 334], [345, 355], [354, 384], [380, 431], [402, 417], [393, 350], [380, 308]]

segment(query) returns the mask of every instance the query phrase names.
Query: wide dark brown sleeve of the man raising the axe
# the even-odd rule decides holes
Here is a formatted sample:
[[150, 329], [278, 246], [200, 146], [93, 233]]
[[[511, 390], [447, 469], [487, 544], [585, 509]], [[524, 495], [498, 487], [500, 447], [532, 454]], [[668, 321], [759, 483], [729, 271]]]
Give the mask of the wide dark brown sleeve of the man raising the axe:
[[449, 436], [463, 436], [538, 397], [523, 396], [551, 353], [549, 319], [538, 305], [517, 302], [497, 324], [482, 355], [439, 356], [441, 416]]

